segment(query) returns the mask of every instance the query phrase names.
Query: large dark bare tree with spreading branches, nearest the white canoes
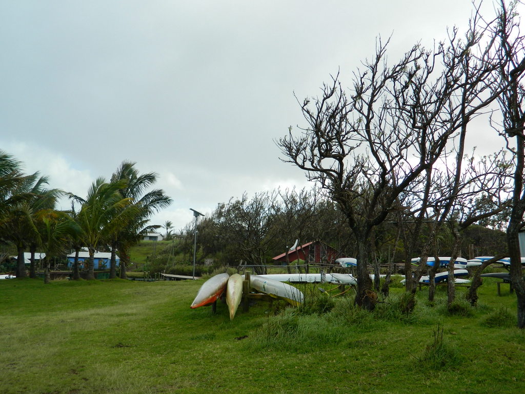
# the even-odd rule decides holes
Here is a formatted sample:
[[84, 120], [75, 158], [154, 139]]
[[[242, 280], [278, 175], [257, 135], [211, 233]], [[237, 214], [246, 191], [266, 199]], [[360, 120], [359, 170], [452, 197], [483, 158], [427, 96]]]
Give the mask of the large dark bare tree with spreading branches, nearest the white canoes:
[[303, 101], [302, 133], [290, 128], [277, 142], [283, 160], [306, 171], [345, 214], [358, 247], [356, 304], [364, 308], [374, 308], [366, 268], [372, 230], [402, 209], [398, 196], [453, 150], [451, 140], [497, 96], [481, 83], [495, 65], [484, 61], [491, 43], [478, 47], [480, 30], [476, 14], [463, 38], [453, 29], [446, 44], [417, 44], [393, 66], [379, 41], [349, 95], [333, 77], [319, 98]]

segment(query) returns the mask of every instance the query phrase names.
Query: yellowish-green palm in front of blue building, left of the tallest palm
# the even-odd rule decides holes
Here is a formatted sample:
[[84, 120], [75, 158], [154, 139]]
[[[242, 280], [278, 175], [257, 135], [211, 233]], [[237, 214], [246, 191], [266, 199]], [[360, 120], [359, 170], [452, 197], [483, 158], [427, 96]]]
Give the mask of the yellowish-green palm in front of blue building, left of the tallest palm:
[[119, 190], [125, 187], [125, 181], [106, 182], [98, 178], [92, 183], [86, 199], [69, 193], [69, 198], [82, 204], [78, 213], [78, 225], [81, 230], [80, 238], [89, 252], [87, 279], [95, 279], [93, 257], [98, 247], [104, 241], [112, 223], [121, 220], [124, 208], [131, 203], [131, 199], [123, 198]]

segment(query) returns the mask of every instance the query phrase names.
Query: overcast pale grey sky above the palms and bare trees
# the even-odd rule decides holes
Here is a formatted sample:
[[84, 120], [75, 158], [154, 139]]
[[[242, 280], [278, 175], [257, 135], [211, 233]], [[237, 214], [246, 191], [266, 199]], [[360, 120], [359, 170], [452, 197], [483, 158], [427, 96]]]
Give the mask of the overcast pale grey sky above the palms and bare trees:
[[[492, 6], [487, 2], [488, 11]], [[306, 184], [274, 140], [300, 99], [392, 35], [395, 60], [464, 27], [470, 0], [0, 0], [0, 149], [85, 196], [123, 160], [190, 208]], [[61, 208], [69, 208], [64, 204]]]

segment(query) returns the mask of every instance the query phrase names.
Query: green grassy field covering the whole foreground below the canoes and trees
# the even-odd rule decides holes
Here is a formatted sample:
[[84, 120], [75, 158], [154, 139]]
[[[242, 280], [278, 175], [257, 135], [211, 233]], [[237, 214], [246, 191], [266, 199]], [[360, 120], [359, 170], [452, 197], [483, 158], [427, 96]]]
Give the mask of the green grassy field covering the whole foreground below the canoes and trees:
[[401, 288], [370, 314], [317, 285], [302, 289], [329, 313], [259, 302], [233, 322], [224, 304], [189, 308], [202, 283], [0, 281], [0, 393], [525, 391], [516, 298], [491, 280], [463, 315], [443, 289], [407, 317]]

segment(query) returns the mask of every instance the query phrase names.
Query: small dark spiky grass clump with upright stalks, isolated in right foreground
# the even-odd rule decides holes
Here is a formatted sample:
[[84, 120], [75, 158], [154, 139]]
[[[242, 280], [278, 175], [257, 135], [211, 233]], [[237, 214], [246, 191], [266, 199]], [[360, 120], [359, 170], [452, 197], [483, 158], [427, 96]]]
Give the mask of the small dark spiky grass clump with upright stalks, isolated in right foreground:
[[456, 347], [443, 337], [443, 327], [438, 324], [433, 332], [432, 341], [425, 346], [421, 357], [415, 357], [428, 369], [451, 368], [459, 365]]

